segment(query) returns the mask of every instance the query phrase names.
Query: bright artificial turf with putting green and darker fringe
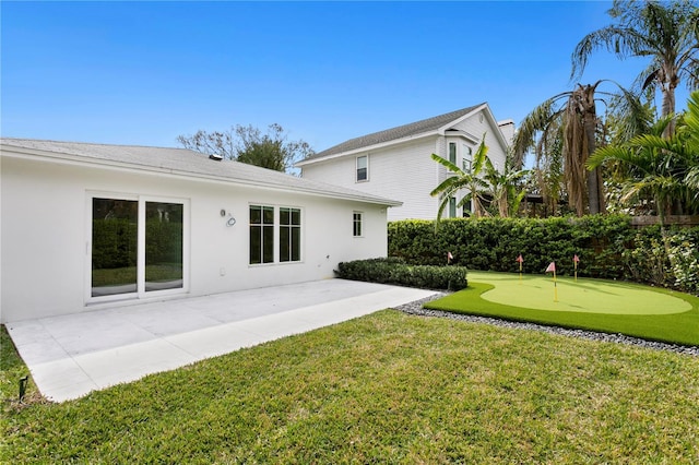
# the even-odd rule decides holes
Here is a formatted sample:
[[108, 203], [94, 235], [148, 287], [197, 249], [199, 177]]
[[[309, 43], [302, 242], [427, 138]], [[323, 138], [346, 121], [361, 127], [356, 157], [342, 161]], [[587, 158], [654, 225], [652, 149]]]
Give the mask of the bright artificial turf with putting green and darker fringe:
[[[498, 290], [500, 286], [500, 293], [496, 297], [488, 297], [489, 291]], [[578, 288], [576, 291], [579, 297], [571, 299], [569, 293], [574, 288]], [[485, 293], [488, 295], [484, 296]], [[537, 300], [531, 297], [533, 293], [538, 293]], [[580, 279], [577, 284], [572, 279], [559, 279], [558, 295], [559, 302], [556, 303], [550, 277], [529, 276], [520, 285], [517, 275], [470, 272], [466, 289], [431, 301], [426, 307], [546, 325], [621, 333], [673, 344], [699, 345], [699, 297], [599, 279]], [[604, 310], [613, 297], [617, 297], [617, 303]], [[624, 305], [628, 305], [623, 302], [626, 299], [632, 303], [621, 309]], [[552, 310], [556, 308], [562, 310]], [[619, 309], [624, 311], [619, 312]], [[670, 313], [665, 313], [667, 311]]]

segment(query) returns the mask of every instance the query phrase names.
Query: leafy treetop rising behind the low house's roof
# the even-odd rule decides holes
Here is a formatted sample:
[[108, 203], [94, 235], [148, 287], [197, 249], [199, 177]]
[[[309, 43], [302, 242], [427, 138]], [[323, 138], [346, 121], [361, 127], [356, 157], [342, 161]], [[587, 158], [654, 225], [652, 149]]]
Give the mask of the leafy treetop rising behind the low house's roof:
[[313, 153], [303, 141], [288, 141], [280, 124], [270, 124], [262, 133], [252, 126], [237, 124], [227, 131], [197, 131], [193, 135], [177, 138], [185, 148], [215, 155], [277, 171], [289, 170], [294, 163]]

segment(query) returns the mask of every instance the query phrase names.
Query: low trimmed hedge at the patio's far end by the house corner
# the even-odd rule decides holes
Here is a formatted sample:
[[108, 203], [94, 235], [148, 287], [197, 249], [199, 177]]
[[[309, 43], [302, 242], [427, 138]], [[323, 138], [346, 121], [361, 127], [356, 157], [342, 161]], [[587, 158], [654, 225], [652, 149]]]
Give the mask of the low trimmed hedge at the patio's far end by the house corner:
[[337, 275], [344, 279], [448, 290], [469, 285], [463, 266], [408, 265], [395, 258], [342, 262], [337, 269]]

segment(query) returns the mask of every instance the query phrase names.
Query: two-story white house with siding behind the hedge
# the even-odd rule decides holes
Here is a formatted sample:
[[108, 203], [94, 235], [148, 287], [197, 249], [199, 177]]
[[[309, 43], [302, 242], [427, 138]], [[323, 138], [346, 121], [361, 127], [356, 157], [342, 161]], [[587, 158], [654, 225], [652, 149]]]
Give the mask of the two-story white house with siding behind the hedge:
[[[485, 135], [488, 156], [502, 168], [514, 122], [498, 122], [487, 104], [351, 139], [296, 164], [304, 179], [352, 188], [403, 202], [389, 219], [435, 219], [439, 200], [429, 195], [449, 172], [433, 153], [469, 169]], [[453, 199], [445, 216], [462, 216]], [[471, 207], [465, 207], [471, 212]]]

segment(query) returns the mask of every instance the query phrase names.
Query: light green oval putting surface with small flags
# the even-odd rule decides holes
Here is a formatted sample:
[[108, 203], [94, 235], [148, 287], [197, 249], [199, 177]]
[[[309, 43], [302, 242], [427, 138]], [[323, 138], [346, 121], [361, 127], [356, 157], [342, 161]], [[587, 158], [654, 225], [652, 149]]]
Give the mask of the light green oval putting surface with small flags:
[[481, 297], [496, 303], [538, 310], [613, 314], [670, 314], [691, 310], [691, 305], [648, 286], [601, 279], [578, 281], [552, 275], [470, 272], [469, 281], [493, 284]]

